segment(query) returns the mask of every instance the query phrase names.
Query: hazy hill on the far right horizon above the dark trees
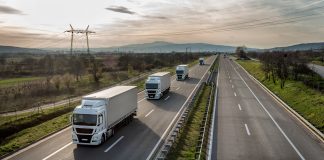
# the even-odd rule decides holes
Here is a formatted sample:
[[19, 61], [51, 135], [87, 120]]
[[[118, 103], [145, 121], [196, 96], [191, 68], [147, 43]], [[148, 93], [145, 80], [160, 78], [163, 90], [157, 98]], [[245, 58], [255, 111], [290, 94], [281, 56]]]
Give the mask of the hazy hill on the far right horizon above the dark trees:
[[306, 50], [321, 50], [324, 49], [324, 42], [319, 43], [302, 43], [287, 47], [270, 48], [270, 51], [306, 51]]

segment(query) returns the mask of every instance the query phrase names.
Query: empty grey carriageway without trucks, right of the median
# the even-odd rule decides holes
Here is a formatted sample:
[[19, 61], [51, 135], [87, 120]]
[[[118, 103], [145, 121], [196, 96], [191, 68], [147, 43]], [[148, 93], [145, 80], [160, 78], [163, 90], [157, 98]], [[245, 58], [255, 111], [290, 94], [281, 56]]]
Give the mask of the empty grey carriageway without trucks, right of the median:
[[324, 144], [234, 61], [220, 58], [211, 159], [309, 159]]

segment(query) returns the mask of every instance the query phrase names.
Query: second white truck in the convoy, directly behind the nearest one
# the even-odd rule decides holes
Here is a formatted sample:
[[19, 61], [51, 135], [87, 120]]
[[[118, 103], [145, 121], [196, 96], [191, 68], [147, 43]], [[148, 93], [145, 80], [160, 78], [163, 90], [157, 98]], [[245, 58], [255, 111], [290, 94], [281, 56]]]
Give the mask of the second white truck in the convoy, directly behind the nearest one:
[[170, 72], [158, 72], [150, 75], [145, 83], [145, 96], [147, 99], [160, 99], [167, 94], [171, 86]]

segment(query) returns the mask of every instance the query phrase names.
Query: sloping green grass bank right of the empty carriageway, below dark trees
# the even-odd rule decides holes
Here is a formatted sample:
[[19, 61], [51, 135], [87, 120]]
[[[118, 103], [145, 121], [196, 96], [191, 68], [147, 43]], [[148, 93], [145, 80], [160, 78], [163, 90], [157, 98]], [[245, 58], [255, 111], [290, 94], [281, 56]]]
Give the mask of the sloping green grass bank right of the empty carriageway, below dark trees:
[[279, 82], [274, 84], [272, 81], [265, 79], [260, 62], [237, 62], [296, 112], [324, 133], [324, 95], [321, 92], [309, 88], [302, 82], [293, 80], [287, 80], [285, 87], [281, 89]]

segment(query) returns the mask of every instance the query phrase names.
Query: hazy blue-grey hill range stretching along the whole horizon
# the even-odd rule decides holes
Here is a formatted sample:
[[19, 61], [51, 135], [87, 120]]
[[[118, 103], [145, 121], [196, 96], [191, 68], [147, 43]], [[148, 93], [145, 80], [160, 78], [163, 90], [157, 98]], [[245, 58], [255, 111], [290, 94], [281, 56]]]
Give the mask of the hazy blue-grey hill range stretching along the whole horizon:
[[[163, 41], [156, 41], [152, 43], [143, 43], [143, 44], [130, 44], [124, 46], [116, 47], [107, 47], [107, 48], [91, 48], [91, 52], [104, 52], [104, 53], [116, 53], [116, 52], [133, 52], [133, 53], [169, 53], [169, 52], [235, 52], [236, 46], [227, 46], [227, 45], [215, 45], [208, 43], [170, 43]], [[248, 51], [305, 51], [305, 50], [321, 50], [324, 49], [324, 42], [319, 43], [303, 43], [296, 44], [287, 47], [275, 47], [270, 49], [255, 49], [248, 48]], [[1, 53], [70, 53], [69, 48], [46, 48], [46, 49], [37, 49], [37, 48], [21, 48], [13, 46], [1, 46], [0, 45], [0, 54]], [[76, 52], [86, 53], [85, 48], [75, 48]]]

